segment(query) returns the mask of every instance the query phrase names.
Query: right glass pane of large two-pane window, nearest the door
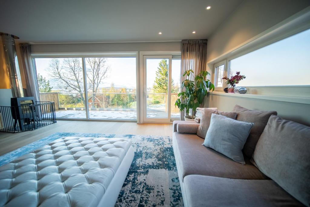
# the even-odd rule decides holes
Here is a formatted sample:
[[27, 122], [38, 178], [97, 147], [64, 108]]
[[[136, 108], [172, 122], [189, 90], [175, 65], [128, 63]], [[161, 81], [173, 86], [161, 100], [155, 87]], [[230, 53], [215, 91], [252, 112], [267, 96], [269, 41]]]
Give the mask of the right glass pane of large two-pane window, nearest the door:
[[136, 120], [136, 59], [85, 58], [85, 66], [89, 118]]

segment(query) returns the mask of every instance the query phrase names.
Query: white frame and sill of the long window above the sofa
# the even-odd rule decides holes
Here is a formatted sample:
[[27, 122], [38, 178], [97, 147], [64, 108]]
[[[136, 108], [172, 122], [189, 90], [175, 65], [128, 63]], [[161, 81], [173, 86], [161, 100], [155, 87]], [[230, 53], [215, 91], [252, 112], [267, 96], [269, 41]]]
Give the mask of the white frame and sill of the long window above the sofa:
[[[266, 31], [256, 35], [250, 40], [243, 42], [239, 46], [225, 52], [222, 55], [210, 60], [208, 68], [213, 69], [213, 80], [215, 80], [215, 67], [222, 62], [226, 62], [224, 76], [229, 73], [230, 60], [258, 50], [264, 46], [298, 34], [302, 31], [310, 29], [310, 9], [304, 9], [288, 19], [278, 23], [277, 25], [267, 29]], [[246, 86], [246, 94], [227, 94], [223, 89], [227, 87], [223, 83], [223, 87], [215, 88], [211, 94], [242, 96], [247, 98], [281, 100], [294, 103], [310, 104], [310, 85], [292, 85], [292, 86]]]

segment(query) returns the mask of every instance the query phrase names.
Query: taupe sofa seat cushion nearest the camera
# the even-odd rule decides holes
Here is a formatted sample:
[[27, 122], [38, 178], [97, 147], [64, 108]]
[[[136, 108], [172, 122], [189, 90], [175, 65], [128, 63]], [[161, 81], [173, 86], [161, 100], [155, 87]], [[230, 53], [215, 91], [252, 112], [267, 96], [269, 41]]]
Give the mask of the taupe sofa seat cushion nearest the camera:
[[272, 180], [243, 180], [188, 175], [185, 206], [303, 206]]

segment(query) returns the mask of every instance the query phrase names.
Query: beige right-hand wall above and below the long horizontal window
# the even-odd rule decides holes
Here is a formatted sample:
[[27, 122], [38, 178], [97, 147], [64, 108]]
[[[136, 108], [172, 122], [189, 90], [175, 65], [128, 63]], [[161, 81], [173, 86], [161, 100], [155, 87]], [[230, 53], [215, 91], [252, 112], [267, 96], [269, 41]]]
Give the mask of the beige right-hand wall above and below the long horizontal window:
[[[309, 5], [308, 0], [245, 0], [208, 38], [207, 61], [248, 41]], [[210, 72], [213, 70], [207, 69]], [[231, 111], [235, 104], [253, 110], [274, 110], [285, 119], [310, 126], [310, 103], [210, 94], [204, 102], [204, 107]]]

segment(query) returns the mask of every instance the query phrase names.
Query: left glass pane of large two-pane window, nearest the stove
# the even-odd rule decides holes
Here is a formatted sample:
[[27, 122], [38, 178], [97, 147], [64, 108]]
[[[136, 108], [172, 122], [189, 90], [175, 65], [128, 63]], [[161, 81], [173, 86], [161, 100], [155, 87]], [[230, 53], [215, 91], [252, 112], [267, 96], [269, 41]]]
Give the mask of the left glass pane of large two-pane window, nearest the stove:
[[86, 119], [82, 58], [36, 58], [41, 101], [55, 102], [57, 118]]

